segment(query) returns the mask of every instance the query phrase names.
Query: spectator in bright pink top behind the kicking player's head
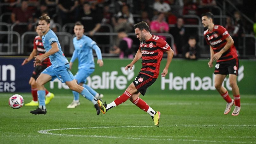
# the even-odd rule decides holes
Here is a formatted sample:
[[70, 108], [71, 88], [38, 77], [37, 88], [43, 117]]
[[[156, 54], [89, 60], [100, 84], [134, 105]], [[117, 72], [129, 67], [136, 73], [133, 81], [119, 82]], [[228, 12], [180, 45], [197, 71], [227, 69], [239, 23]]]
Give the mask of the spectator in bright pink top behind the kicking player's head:
[[[165, 15], [164, 13], [160, 13], [155, 21], [150, 23], [150, 31], [152, 33], [168, 33], [169, 25], [166, 21], [164, 21]], [[158, 36], [166, 40], [165, 36]]]

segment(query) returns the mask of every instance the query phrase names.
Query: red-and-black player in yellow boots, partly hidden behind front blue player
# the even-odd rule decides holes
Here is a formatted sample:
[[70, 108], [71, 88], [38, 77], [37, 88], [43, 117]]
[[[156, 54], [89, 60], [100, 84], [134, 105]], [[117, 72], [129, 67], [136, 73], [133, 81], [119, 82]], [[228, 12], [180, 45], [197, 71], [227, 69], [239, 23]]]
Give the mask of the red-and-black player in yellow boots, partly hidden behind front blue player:
[[[36, 26], [36, 33], [38, 34], [38, 36], [35, 37], [34, 39], [34, 48], [33, 51], [30, 53], [29, 57], [26, 58], [23, 63], [21, 65], [24, 65], [26, 63], [28, 63], [29, 61], [31, 61], [32, 59], [34, 59], [34, 56], [36, 55], [42, 55], [46, 52], [44, 45], [42, 43], [42, 36], [43, 33], [40, 31], [39, 26]], [[36, 87], [36, 79], [38, 78], [38, 76], [40, 75], [40, 73], [46, 69], [48, 66], [50, 66], [52, 63], [48, 58], [46, 58], [42, 63], [40, 63], [40, 65], [35, 66], [35, 69], [32, 73], [32, 76], [30, 77], [29, 80], [29, 84], [31, 85], [31, 93], [32, 93], [32, 97], [33, 99], [31, 100], [31, 102], [25, 104], [25, 106], [38, 106], [38, 96], [37, 96], [37, 87]], [[53, 93], [50, 93], [46, 90], [46, 103], [48, 104], [51, 99], [54, 97]]]

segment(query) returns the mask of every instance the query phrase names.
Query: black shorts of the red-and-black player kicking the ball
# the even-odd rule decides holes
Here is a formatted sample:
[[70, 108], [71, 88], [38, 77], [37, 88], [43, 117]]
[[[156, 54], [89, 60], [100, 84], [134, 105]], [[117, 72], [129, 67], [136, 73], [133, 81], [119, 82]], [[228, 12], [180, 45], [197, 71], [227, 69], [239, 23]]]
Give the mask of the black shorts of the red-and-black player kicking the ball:
[[133, 81], [138, 92], [145, 95], [147, 88], [155, 82], [156, 78], [152, 78], [148, 75], [139, 74]]

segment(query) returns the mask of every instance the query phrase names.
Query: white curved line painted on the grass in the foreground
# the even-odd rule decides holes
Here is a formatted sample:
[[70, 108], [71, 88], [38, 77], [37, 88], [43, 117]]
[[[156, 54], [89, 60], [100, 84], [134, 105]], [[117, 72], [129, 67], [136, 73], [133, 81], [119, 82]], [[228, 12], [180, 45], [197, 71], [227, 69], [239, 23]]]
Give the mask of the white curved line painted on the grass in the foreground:
[[[225, 126], [225, 125], [222, 125]], [[256, 125], [226, 125], [225, 127], [244, 127], [244, 126], [256, 126]], [[138, 128], [138, 127], [155, 127], [155, 126], [119, 126], [119, 127], [82, 127], [82, 128], [62, 128], [62, 129], [46, 129], [46, 130], [39, 130], [38, 133], [40, 134], [47, 134], [47, 135], [58, 135], [58, 136], [70, 136], [70, 137], [101, 137], [101, 138], [114, 138], [114, 139], [136, 139], [136, 140], [140, 140], [140, 139], [144, 139], [144, 140], [158, 140], [158, 141], [196, 141], [196, 142], [217, 142], [217, 143], [247, 143], [247, 142], [243, 142], [243, 141], [205, 141], [205, 140], [184, 140], [184, 139], [158, 139], [158, 138], [141, 138], [141, 137], [146, 137], [146, 136], [131, 136], [131, 137], [122, 137], [122, 136], [101, 136], [101, 135], [69, 135], [69, 134], [54, 134], [54, 133], [48, 133], [48, 131], [57, 131], [57, 130], [70, 130], [70, 129], [100, 129], [100, 128]], [[218, 127], [215, 125], [172, 125], [172, 126], [161, 126], [161, 127]], [[138, 138], [136, 138], [138, 137]], [[161, 137], [161, 136], [155, 136], [155, 137]], [[163, 136], [166, 137], [166, 136]], [[175, 136], [170, 136], [172, 138], [174, 138]], [[196, 138], [196, 137], [194, 137]], [[251, 137], [252, 138], [252, 137]], [[253, 137], [254, 138], [254, 137]], [[250, 142], [250, 143], [255, 143], [255, 142]]]

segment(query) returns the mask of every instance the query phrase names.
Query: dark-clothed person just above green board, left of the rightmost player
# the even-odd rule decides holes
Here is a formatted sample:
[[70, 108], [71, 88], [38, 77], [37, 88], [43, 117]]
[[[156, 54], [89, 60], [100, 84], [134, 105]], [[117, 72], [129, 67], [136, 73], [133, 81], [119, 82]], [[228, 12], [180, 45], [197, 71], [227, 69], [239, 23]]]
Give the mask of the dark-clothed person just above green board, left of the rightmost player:
[[183, 46], [183, 57], [186, 59], [196, 60], [199, 57], [200, 47], [197, 45], [196, 38], [190, 36], [188, 42]]

